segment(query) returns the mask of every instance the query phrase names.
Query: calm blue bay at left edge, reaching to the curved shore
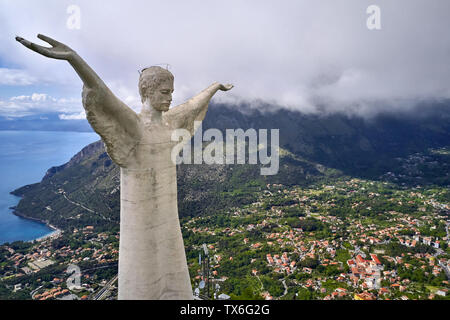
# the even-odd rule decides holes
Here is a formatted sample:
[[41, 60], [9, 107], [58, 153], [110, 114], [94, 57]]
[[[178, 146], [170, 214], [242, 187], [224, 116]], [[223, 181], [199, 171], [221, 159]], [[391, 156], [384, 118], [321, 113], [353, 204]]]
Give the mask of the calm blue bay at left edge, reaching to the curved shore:
[[[29, 129], [22, 126], [20, 130], [2, 128], [0, 119], [0, 168], [5, 170], [5, 184], [0, 194], [0, 199], [5, 200], [0, 212], [0, 243], [41, 240], [64, 232], [63, 224], [33, 212], [33, 208], [22, 209], [18, 204], [24, 201], [31, 187], [40, 183], [47, 172], [55, 168], [55, 164], [59, 167], [59, 164], [69, 162], [86, 145], [99, 140], [95, 132], [84, 132], [72, 126], [64, 130], [53, 126]], [[20, 179], [15, 178], [15, 172], [21, 173]], [[16, 183], [22, 187], [16, 186]], [[11, 213], [23, 220], [14, 218]], [[9, 224], [3, 224], [3, 221]]]

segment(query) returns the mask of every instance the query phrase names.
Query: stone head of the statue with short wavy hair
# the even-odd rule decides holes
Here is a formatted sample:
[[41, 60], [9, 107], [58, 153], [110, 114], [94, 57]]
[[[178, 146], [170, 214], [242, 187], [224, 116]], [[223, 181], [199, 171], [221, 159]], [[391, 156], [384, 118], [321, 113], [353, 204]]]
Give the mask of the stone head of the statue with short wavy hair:
[[142, 70], [139, 77], [139, 94], [142, 103], [149, 100], [152, 108], [158, 111], [169, 110], [173, 93], [173, 74], [161, 67]]

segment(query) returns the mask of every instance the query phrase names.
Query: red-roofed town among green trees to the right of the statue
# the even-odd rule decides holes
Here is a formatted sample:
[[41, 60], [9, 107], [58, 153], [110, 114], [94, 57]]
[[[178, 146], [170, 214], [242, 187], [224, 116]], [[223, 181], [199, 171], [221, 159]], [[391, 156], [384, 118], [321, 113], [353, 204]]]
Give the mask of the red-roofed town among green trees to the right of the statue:
[[[446, 299], [447, 200], [360, 179], [267, 185], [245, 208], [184, 223], [185, 243], [209, 245], [207, 280], [235, 299]], [[190, 267], [205, 280], [194, 254]]]

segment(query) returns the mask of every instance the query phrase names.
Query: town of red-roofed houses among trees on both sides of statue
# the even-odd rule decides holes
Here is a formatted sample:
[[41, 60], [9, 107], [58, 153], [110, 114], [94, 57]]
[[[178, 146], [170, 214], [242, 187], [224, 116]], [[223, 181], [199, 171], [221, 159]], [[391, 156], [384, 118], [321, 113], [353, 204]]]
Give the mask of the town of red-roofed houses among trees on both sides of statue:
[[[201, 299], [448, 299], [448, 192], [345, 177], [263, 185], [251, 204], [181, 218], [193, 289]], [[116, 299], [119, 237], [85, 226], [4, 244], [0, 294]]]

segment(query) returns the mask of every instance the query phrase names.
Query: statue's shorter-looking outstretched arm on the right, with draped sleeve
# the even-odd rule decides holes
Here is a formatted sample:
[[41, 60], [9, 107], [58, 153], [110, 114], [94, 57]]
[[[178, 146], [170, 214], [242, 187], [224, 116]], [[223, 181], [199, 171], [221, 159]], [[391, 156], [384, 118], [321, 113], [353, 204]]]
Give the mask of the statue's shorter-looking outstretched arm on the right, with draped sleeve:
[[208, 103], [218, 91], [228, 91], [233, 88], [232, 84], [220, 84], [214, 82], [208, 88], [192, 97], [185, 103], [176, 106], [164, 114], [174, 127], [184, 128], [194, 134], [194, 121], [203, 121], [208, 111]]

